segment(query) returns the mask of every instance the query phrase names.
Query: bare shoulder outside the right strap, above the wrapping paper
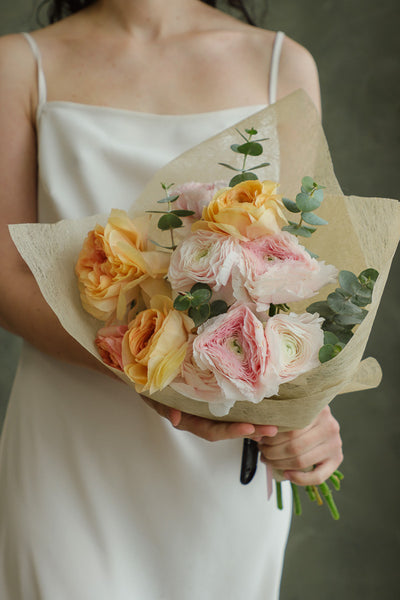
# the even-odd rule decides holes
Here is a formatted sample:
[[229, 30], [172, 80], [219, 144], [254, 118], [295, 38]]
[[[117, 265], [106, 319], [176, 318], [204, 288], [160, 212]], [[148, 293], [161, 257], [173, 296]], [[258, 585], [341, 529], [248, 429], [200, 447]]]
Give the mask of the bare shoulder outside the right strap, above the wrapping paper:
[[285, 36], [279, 62], [278, 100], [303, 89], [321, 111], [318, 69], [311, 53]]

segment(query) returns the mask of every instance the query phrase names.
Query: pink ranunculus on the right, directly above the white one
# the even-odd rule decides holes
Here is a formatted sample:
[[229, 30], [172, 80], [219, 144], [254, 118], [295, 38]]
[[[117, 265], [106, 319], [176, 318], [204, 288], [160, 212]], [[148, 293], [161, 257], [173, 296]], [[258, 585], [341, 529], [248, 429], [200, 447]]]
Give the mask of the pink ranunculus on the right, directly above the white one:
[[286, 231], [242, 242], [241, 249], [242, 268], [233, 280], [234, 294], [241, 302], [250, 298], [257, 310], [310, 298], [337, 279], [333, 265], [311, 258], [296, 236]]

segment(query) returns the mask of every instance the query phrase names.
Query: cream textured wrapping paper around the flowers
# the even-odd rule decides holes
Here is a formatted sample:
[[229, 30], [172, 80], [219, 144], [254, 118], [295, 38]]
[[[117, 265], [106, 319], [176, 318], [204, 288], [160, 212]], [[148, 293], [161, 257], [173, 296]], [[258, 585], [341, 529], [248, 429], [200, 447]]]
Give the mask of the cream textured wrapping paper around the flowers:
[[[255, 127], [264, 142], [263, 161], [271, 167], [260, 170], [260, 179], [277, 179], [280, 193], [294, 199], [301, 179], [310, 175], [325, 186], [325, 197], [318, 215], [329, 225], [319, 227], [311, 238], [300, 239], [320, 260], [357, 275], [365, 268], [379, 271], [368, 315], [355, 335], [334, 359], [282, 384], [279, 396], [259, 404], [237, 402], [225, 417], [214, 417], [208, 404], [181, 396], [166, 388], [151, 397], [168, 406], [214, 420], [275, 424], [282, 429], [303, 428], [337, 394], [364, 390], [379, 385], [381, 370], [374, 358], [362, 360], [379, 301], [387, 280], [400, 232], [399, 202], [385, 198], [346, 197], [336, 180], [319, 116], [311, 100], [297, 91], [236, 125], [240, 130]], [[132, 215], [155, 207], [160, 197], [160, 182], [212, 181], [227, 179], [227, 169], [219, 161], [234, 163], [230, 145], [238, 141], [231, 127], [185, 152], [162, 168], [148, 183]], [[118, 208], [118, 206], [110, 207]], [[10, 232], [20, 254], [35, 276], [41, 292], [63, 327], [89, 352], [100, 357], [94, 345], [101, 326], [81, 307], [74, 266], [87, 232], [96, 223], [104, 224], [108, 215], [95, 215], [55, 224], [11, 225]], [[293, 220], [297, 220], [297, 215]], [[290, 218], [290, 217], [289, 217]], [[311, 302], [326, 299], [335, 285], [302, 303], [291, 303], [291, 310], [303, 312]], [[114, 371], [114, 370], [113, 370]], [[114, 371], [118, 373], [117, 371]], [[124, 381], [128, 379], [118, 373]], [[134, 384], [129, 381], [133, 387]]]

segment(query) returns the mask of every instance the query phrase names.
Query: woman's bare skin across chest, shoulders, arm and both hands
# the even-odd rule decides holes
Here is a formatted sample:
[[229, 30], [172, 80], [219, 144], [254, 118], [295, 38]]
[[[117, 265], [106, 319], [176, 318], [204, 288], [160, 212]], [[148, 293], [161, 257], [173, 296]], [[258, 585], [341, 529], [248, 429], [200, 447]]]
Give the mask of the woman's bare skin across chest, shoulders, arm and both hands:
[[[162, 114], [267, 104], [274, 36], [197, 0], [99, 0], [34, 33], [49, 101]], [[110, 374], [61, 327], [8, 233], [8, 223], [37, 221], [36, 64], [20, 35], [0, 39], [0, 79], [0, 326], [59, 360]], [[320, 110], [314, 60], [285, 38], [278, 99], [298, 88]], [[256, 439], [262, 460], [300, 485], [321, 483], [343, 458], [329, 408], [306, 429], [278, 433], [144, 400], [175, 428], [206, 440]]]

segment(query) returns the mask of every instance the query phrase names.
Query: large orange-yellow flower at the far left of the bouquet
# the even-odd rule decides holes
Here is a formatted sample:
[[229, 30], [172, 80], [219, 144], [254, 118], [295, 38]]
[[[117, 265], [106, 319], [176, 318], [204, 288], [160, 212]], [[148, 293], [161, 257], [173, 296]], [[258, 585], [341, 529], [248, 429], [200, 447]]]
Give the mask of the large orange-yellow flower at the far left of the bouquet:
[[114, 209], [106, 227], [96, 225], [83, 243], [75, 267], [81, 301], [100, 321], [115, 313], [121, 320], [133, 288], [168, 270], [168, 255], [146, 250], [144, 226], [144, 219], [131, 220], [124, 211]]

